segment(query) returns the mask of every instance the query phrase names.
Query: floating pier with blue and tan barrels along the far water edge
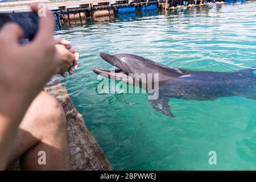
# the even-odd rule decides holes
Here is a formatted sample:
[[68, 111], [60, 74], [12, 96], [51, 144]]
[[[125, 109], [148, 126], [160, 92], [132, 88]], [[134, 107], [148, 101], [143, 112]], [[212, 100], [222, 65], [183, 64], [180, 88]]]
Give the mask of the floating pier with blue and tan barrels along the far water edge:
[[[207, 0], [211, 1], [211, 0]], [[175, 8], [170, 7], [171, 2], [176, 2]], [[184, 5], [184, 2], [185, 5]], [[84, 20], [92, 17], [113, 16], [114, 14], [134, 15], [135, 12], [146, 12], [157, 9], [186, 8], [188, 1], [185, 0], [24, 0], [0, 2], [0, 12], [28, 11], [32, 3], [45, 3], [48, 9], [55, 14], [55, 21], [59, 24], [72, 20]], [[203, 6], [207, 5], [193, 5]]]

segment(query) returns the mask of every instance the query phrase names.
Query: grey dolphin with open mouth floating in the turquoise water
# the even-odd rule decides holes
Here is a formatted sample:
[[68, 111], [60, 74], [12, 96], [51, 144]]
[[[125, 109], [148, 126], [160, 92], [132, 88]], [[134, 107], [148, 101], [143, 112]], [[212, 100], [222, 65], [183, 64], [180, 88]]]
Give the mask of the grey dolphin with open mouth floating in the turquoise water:
[[[115, 80], [140, 79], [130, 77], [129, 73], [159, 73], [159, 97], [149, 100], [152, 107], [170, 117], [174, 117], [168, 105], [169, 98], [184, 100], [215, 100], [218, 97], [241, 96], [256, 100], [255, 67], [235, 72], [189, 71], [167, 67], [141, 56], [130, 54], [109, 55], [101, 53], [102, 59], [119, 69], [93, 68], [97, 74], [105, 73], [105, 77], [114, 75]], [[125, 79], [123, 79], [125, 78]], [[146, 82], [147, 80], [139, 80]], [[154, 79], [153, 81], [154, 82]]]

